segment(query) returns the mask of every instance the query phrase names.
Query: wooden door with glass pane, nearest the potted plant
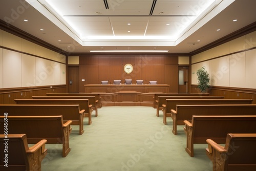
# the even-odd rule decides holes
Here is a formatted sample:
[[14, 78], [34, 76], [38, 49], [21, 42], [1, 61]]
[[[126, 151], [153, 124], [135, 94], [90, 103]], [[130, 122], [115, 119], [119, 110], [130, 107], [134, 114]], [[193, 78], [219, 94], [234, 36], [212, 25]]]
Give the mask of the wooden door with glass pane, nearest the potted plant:
[[178, 78], [179, 78], [179, 90], [178, 90], [178, 93], [188, 93], [188, 79], [187, 79], [187, 67], [179, 67], [179, 75], [178, 75]]

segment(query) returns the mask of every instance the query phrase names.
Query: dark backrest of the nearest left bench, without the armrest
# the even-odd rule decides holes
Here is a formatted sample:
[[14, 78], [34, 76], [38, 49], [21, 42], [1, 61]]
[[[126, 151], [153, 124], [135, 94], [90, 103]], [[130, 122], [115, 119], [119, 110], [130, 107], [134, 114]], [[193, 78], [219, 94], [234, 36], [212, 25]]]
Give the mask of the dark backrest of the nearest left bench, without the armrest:
[[[5, 146], [5, 139], [8, 139], [7, 146]], [[8, 148], [8, 152], [4, 152], [5, 148]], [[29, 149], [26, 135], [0, 135], [0, 170], [8, 170], [8, 168], [13, 168], [13, 170], [27, 170], [29, 167], [28, 158], [26, 151]], [[8, 154], [7, 163], [5, 163], [5, 154]], [[4, 162], [3, 162], [4, 161]], [[7, 164], [8, 167], [4, 166]], [[5, 169], [6, 168], [6, 169]]]

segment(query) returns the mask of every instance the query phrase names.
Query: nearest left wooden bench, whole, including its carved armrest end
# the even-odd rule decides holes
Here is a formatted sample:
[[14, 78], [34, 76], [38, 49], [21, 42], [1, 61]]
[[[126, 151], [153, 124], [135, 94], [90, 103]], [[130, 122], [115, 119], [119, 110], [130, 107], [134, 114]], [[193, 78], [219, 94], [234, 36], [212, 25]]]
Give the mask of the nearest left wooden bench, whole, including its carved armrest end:
[[47, 155], [46, 142], [47, 140], [40, 140], [29, 147], [26, 134], [8, 134], [8, 137], [1, 134], [0, 170], [40, 171], [41, 161]]

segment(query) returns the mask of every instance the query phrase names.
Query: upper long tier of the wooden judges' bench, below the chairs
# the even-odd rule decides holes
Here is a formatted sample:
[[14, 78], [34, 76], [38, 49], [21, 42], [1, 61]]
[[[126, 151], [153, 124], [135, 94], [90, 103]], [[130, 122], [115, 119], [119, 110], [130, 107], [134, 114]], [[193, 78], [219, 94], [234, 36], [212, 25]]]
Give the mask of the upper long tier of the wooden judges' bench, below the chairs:
[[116, 93], [136, 91], [140, 93], [169, 93], [169, 84], [84, 84], [85, 93]]

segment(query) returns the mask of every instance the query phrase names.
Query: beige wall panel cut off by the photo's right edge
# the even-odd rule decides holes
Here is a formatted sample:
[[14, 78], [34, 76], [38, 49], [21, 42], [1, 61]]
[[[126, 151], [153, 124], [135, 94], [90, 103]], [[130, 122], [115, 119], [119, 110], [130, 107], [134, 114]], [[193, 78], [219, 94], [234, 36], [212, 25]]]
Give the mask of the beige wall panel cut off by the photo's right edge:
[[256, 49], [245, 52], [245, 88], [256, 89]]

